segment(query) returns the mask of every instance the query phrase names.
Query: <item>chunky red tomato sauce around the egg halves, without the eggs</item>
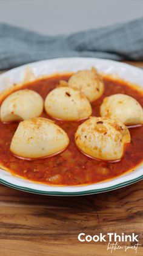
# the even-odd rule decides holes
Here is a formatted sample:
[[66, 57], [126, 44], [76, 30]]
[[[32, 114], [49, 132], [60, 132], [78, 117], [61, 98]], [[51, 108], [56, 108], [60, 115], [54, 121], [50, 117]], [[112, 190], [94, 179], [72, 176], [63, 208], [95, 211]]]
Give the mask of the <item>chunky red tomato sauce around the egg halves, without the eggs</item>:
[[[22, 88], [37, 91], [45, 99], [59, 80], [68, 80], [69, 74], [39, 79]], [[143, 93], [121, 80], [104, 77], [105, 91], [100, 99], [91, 104], [93, 116], [99, 116], [99, 107], [106, 96], [115, 93], [128, 94], [135, 98], [143, 107]], [[50, 118], [44, 112], [43, 117]], [[52, 119], [52, 118], [50, 118]], [[13, 175], [35, 182], [50, 185], [82, 185], [102, 182], [133, 171], [143, 160], [143, 126], [130, 128], [131, 143], [125, 149], [120, 162], [108, 163], [91, 159], [76, 148], [74, 135], [80, 122], [58, 121], [55, 123], [67, 132], [70, 138], [68, 148], [61, 154], [34, 161], [22, 160], [10, 153], [10, 143], [18, 123], [3, 124], [0, 121], [0, 165], [12, 172]]]

